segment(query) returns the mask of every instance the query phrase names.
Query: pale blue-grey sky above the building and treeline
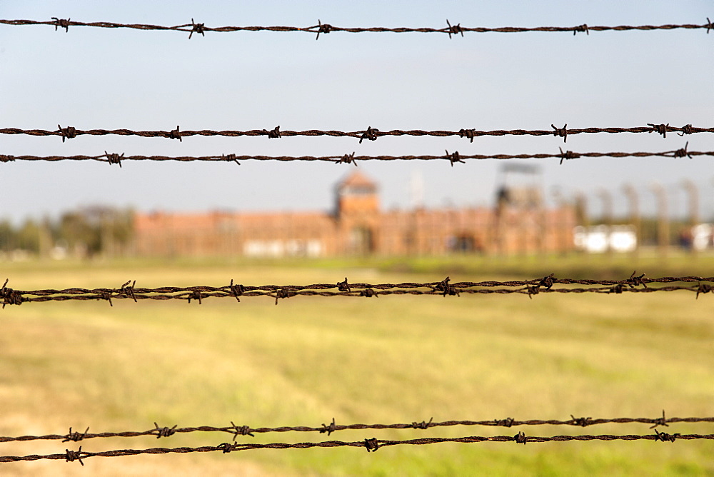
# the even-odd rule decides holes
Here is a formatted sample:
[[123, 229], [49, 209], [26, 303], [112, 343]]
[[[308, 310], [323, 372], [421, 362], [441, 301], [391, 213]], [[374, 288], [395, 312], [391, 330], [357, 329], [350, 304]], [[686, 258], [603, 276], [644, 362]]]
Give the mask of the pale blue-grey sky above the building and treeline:
[[[0, 18], [206, 26], [573, 26], [703, 24], [710, 1], [3, 1]], [[476, 34], [321, 35], [137, 31], [0, 25], [0, 127], [56, 129], [550, 129], [550, 124], [714, 126], [714, 34], [705, 30]], [[573, 151], [714, 150], [713, 134], [578, 135]], [[555, 137], [168, 139], [0, 136], [0, 154], [328, 155], [521, 154], [558, 151]], [[501, 162], [363, 163], [383, 206], [408, 207], [414, 171], [427, 206], [491, 204]], [[671, 191], [683, 214], [682, 179], [700, 185], [714, 216], [712, 158], [537, 161], [546, 191], [590, 194], [620, 186]], [[86, 204], [142, 211], [323, 210], [353, 166], [308, 163], [0, 164], [0, 218], [56, 214]]]

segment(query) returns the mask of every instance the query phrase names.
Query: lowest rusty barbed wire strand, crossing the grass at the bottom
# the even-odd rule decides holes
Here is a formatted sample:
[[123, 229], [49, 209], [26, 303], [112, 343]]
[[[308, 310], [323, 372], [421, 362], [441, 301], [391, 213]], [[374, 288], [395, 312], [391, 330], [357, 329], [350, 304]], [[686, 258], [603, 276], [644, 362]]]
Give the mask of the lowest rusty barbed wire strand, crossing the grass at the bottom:
[[425, 437], [417, 439], [408, 439], [406, 441], [391, 441], [386, 439], [366, 438], [363, 441], [322, 441], [322, 442], [298, 442], [298, 443], [228, 443], [224, 442], [218, 446], [201, 446], [201, 447], [154, 447], [146, 449], [119, 449], [116, 451], [101, 451], [89, 452], [82, 451], [79, 447], [78, 451], [70, 451], [66, 449], [65, 453], [47, 454], [40, 456], [37, 454], [30, 456], [0, 456], [1, 462], [19, 462], [19, 461], [39, 461], [47, 460], [64, 460], [66, 462], [79, 461], [82, 466], [82, 459], [90, 457], [122, 457], [122, 456], [137, 456], [139, 454], [166, 454], [166, 453], [193, 453], [193, 452], [217, 452], [230, 453], [233, 451], [248, 451], [251, 449], [291, 449], [291, 448], [335, 448], [335, 447], [361, 447], [366, 448], [368, 452], [376, 452], [379, 448], [388, 446], [420, 446], [436, 443], [480, 443], [480, 442], [515, 442], [518, 444], [526, 443], [541, 443], [541, 442], [568, 442], [568, 441], [661, 441], [674, 442], [676, 440], [692, 441], [695, 439], [714, 440], [714, 434], [680, 434], [680, 433], [665, 433], [655, 429], [654, 434], [625, 434], [612, 435], [603, 434], [599, 436], [583, 435], [583, 436], [526, 436], [525, 433], [519, 432], [515, 436], [466, 436], [466, 437]]

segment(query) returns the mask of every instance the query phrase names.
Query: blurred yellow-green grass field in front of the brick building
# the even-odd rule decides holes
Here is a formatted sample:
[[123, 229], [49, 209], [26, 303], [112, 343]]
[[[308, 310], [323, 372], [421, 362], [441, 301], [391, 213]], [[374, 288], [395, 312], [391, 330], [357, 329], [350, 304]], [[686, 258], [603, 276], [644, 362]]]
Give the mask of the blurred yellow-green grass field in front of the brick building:
[[[9, 286], [627, 278], [632, 260], [483, 258], [275, 263], [3, 263]], [[638, 271], [714, 275], [712, 258], [641, 258]], [[520, 270], [521, 273], [516, 273]], [[3, 280], [4, 281], [4, 280]], [[0, 435], [154, 426], [318, 426], [450, 419], [714, 415], [714, 296], [383, 296], [24, 303], [0, 314]], [[669, 433], [714, 433], [672, 424]], [[649, 426], [430, 428], [257, 434], [251, 442], [653, 433]], [[84, 450], [215, 446], [230, 435], [92, 439]], [[0, 443], [0, 455], [76, 443]], [[1, 475], [714, 475], [711, 441], [441, 443], [89, 458]]]

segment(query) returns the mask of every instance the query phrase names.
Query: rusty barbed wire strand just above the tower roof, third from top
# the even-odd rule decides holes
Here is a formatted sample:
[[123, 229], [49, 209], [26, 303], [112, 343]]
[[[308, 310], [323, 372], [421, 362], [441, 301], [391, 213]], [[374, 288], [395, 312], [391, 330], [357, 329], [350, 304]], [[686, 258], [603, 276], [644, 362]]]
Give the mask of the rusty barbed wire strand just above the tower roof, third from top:
[[8, 154], [0, 154], [0, 162], [13, 161], [99, 161], [107, 164], [119, 164], [121, 167], [122, 161], [208, 161], [208, 162], [235, 162], [240, 165], [240, 161], [325, 161], [334, 164], [354, 164], [358, 161], [449, 161], [451, 165], [469, 159], [560, 159], [560, 164], [564, 160], [579, 159], [581, 157], [670, 157], [682, 158], [688, 157], [692, 159], [694, 156], [714, 156], [714, 151], [688, 151], [689, 143], [681, 149], [675, 151], [662, 152], [574, 152], [563, 151], [560, 149], [559, 154], [459, 154], [458, 151], [446, 154], [443, 156], [355, 156], [352, 154], [343, 154], [341, 156], [238, 156], [237, 154], [221, 154], [221, 156], [124, 156], [124, 154], [108, 153], [99, 156], [11, 156]]

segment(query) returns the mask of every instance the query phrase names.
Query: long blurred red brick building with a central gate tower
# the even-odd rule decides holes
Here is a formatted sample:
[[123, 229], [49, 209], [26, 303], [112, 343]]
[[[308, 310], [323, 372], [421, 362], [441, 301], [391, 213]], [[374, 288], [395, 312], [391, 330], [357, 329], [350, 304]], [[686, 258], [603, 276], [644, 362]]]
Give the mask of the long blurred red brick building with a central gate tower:
[[376, 184], [353, 172], [336, 187], [331, 213], [136, 214], [134, 250], [142, 256], [276, 257], [571, 250], [573, 209], [544, 209], [518, 192], [501, 189], [494, 209], [381, 211]]

